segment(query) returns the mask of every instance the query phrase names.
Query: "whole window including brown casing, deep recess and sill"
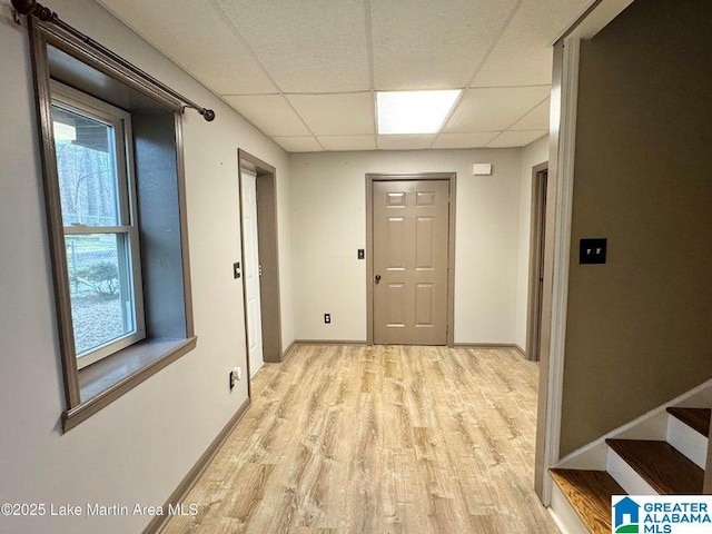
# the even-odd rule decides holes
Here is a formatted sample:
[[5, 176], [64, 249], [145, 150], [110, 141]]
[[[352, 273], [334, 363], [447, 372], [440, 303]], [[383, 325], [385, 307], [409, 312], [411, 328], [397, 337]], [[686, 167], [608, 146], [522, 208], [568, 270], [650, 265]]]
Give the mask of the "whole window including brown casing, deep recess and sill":
[[67, 432], [197, 345], [184, 105], [79, 37], [28, 28]]

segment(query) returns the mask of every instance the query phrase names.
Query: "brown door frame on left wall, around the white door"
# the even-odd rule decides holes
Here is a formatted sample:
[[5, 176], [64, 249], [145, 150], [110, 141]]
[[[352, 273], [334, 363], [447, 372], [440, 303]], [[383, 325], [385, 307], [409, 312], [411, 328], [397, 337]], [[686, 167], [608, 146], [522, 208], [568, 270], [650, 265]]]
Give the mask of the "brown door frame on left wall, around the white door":
[[[281, 352], [281, 308], [279, 288], [279, 239], [277, 235], [277, 169], [251, 154], [237, 149], [237, 177], [240, 202], [240, 261], [245, 271], [245, 228], [243, 226], [243, 167], [257, 175], [257, 241], [259, 243], [259, 297], [263, 317], [263, 359], [279, 363]], [[243, 278], [243, 310], [245, 315], [245, 350], [247, 356], [248, 395], [250, 389], [249, 340], [247, 339], [247, 295], [246, 278]], [[265, 320], [268, 317], [269, 320]]]

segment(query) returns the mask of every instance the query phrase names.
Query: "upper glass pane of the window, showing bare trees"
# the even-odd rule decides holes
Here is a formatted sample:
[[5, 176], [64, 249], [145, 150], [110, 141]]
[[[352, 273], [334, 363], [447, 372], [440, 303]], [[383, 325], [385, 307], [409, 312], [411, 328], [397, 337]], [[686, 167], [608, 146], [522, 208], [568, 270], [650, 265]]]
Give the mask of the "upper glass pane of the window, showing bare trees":
[[52, 106], [65, 226], [120, 226], [113, 127]]

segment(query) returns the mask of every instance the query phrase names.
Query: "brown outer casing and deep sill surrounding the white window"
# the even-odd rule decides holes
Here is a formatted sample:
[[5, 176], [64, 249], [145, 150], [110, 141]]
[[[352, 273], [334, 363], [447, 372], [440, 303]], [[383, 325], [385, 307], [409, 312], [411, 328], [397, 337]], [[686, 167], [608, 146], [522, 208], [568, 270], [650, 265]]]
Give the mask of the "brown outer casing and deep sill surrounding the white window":
[[[55, 289], [58, 338], [57, 348], [58, 356], [61, 362], [66, 399], [65, 409], [60, 416], [59, 427], [62, 432], [68, 432], [120, 398], [122, 395], [129, 393], [132, 388], [150, 378], [154, 374], [187, 355], [197, 346], [197, 337], [194, 330], [192, 318], [190, 258], [186, 214], [186, 185], [182, 161], [181, 116], [184, 112], [184, 105], [172, 95], [162, 90], [160, 86], [151, 83], [147, 78], [137, 75], [137, 72], [134, 72], [121, 63], [115, 61], [110, 52], [103, 53], [97, 48], [88, 46], [87, 42], [67, 31], [63, 31], [56, 24], [43, 22], [34, 17], [28, 17], [26, 21], [30, 38], [30, 57], [32, 60], [38, 121], [38, 148], [42, 166], [42, 185], [44, 189], [47, 216], [46, 222], [48, 228], [47, 239], [49, 259], [51, 260], [51, 264], [48, 264], [48, 268], [52, 277]], [[170, 209], [172, 210], [171, 214], [175, 221], [171, 230], [164, 234], [177, 235], [177, 238], [168, 244], [160, 241], [158, 247], [162, 247], [164, 245], [171, 247], [170, 250], [172, 250], [179, 261], [172, 264], [172, 273], [175, 273], [175, 277], [171, 281], [172, 285], [169, 288], [169, 290], [174, 291], [172, 295], [175, 295], [174, 299], [169, 303], [172, 307], [165, 305], [164, 300], [161, 300], [162, 294], [157, 300], [150, 300], [154, 303], [151, 306], [158, 308], [158, 313], [151, 312], [151, 317], [157, 317], [158, 320], [162, 320], [165, 316], [170, 316], [171, 323], [169, 323], [169, 325], [174, 325], [170, 327], [171, 333], [166, 334], [161, 332], [152, 332], [152, 328], [155, 327], [149, 327], [147, 283], [155, 284], [156, 280], [160, 279], [157, 276], [161, 275], [152, 274], [151, 276], [148, 276], [145, 269], [147, 265], [154, 268], [154, 266], [160, 267], [161, 264], [160, 259], [146, 259], [146, 255], [141, 254], [144, 297], [146, 299], [144, 304], [146, 308], [146, 338], [138, 343], [134, 343], [132, 345], [122, 348], [82, 369], [78, 368], [75, 355], [76, 349], [73, 344], [73, 328], [71, 325], [71, 301], [68, 285], [68, 264], [65, 250], [61, 197], [55, 156], [56, 147], [51, 110], [52, 95], [50, 86], [52, 78], [50, 77], [50, 72], [52, 71], [51, 69], [59, 68], [60, 65], [50, 62], [50, 48], [56, 49], [57, 51], [66, 55], [71, 61], [75, 61], [80, 69], [80, 73], [78, 76], [89, 77], [81, 79], [88, 82], [91, 88], [89, 89], [89, 92], [92, 95], [99, 96], [102, 99], [105, 98], [97, 89], [98, 87], [107, 87], [102, 85], [103, 80], [103, 82], [109, 83], [108, 90], [115, 91], [111, 98], [116, 98], [117, 90], [120, 91], [121, 96], [132, 92], [140, 98], [146, 99], [146, 102], [151, 102], [151, 109], [167, 113], [166, 116], [171, 118], [170, 131], [168, 132], [165, 130], [161, 135], [170, 136], [169, 151], [171, 162], [168, 167], [170, 167], [170, 174], [174, 178], [170, 178], [170, 190], [168, 192], [171, 195], [170, 202], [172, 204], [170, 205]], [[52, 67], [50, 67], [50, 65]], [[61, 67], [63, 68], [65, 65], [61, 65]], [[87, 73], [87, 69], [91, 72]], [[117, 82], [122, 87], [117, 89]], [[131, 109], [132, 108], [128, 108], [128, 111], [131, 111]], [[137, 108], [135, 119], [137, 119], [142, 112], [141, 108]], [[131, 113], [134, 113], [134, 111], [131, 111]], [[141, 120], [145, 120], [145, 116]], [[134, 131], [134, 137], [136, 137], [136, 131]], [[168, 140], [167, 137], [162, 139]], [[138, 189], [144, 187], [141, 184], [152, 184], [152, 180], [150, 174], [145, 175], [144, 178], [140, 176], [137, 146], [138, 140], [139, 138], [137, 137], [135, 139], [136, 154], [134, 160], [134, 170], [137, 172], [135, 180], [135, 198], [138, 200], [139, 209], [144, 209], [141, 207], [141, 199], [138, 196]], [[148, 155], [144, 157], [147, 158]], [[155, 233], [156, 229], [154, 228], [152, 230]], [[139, 231], [142, 234], [144, 228], [139, 228]], [[151, 239], [155, 237], [156, 236]], [[145, 246], [145, 244], [142, 246]], [[159, 250], [162, 250], [162, 248], [159, 248]]]

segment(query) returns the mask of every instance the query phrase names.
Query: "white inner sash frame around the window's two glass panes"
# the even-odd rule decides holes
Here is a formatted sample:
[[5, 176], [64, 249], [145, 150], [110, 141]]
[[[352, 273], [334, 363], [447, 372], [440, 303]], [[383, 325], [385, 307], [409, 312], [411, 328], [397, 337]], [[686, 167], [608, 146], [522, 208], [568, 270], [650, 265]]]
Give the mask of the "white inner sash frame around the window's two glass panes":
[[[91, 95], [81, 92], [57, 80], [50, 80], [51, 105], [65, 109], [76, 115], [86, 116], [110, 126], [113, 129], [113, 154], [116, 156], [116, 178], [117, 178], [117, 200], [118, 200], [118, 226], [62, 226], [65, 238], [68, 235], [116, 235], [117, 243], [119, 234], [126, 235], [129, 254], [128, 261], [130, 268], [123, 275], [130, 284], [132, 299], [134, 329], [118, 338], [103, 343], [90, 350], [77, 354], [75, 344], [75, 356], [77, 358], [77, 369], [80, 370], [107, 356], [126, 348], [146, 338], [146, 319], [144, 316], [144, 285], [141, 279], [141, 254], [140, 235], [138, 226], [138, 207], [136, 196], [136, 172], [134, 166], [134, 138], [131, 130], [131, 113], [117, 108]], [[55, 152], [57, 144], [55, 142]], [[57, 161], [57, 154], [55, 155]], [[59, 179], [59, 175], [58, 175]], [[61, 204], [61, 202], [60, 202]], [[62, 214], [63, 216], [63, 214]], [[119, 266], [121, 269], [121, 266]], [[119, 275], [121, 278], [121, 275]], [[67, 280], [69, 284], [69, 279]], [[70, 296], [71, 300], [71, 296]], [[126, 310], [125, 310], [126, 313]], [[72, 323], [73, 318], [69, 317]]]

